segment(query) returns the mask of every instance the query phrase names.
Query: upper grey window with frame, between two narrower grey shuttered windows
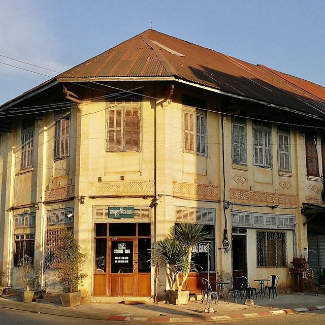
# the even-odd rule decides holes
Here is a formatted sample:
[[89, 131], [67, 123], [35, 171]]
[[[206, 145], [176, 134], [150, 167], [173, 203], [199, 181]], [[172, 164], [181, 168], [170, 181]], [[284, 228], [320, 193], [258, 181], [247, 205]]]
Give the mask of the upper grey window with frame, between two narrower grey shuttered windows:
[[[255, 143], [256, 140], [255, 132], [259, 133], [258, 137], [261, 136], [262, 144]], [[253, 165], [258, 167], [272, 168], [273, 167], [272, 123], [263, 122], [263, 121], [253, 121], [252, 133], [253, 133], [253, 143], [252, 143]], [[259, 141], [259, 139], [257, 139], [257, 141]], [[267, 143], [270, 144], [269, 147], [266, 145]], [[256, 150], [258, 150], [258, 157], [256, 156]], [[267, 150], [269, 150], [268, 154], [267, 154]], [[261, 155], [262, 155], [262, 161], [261, 161]], [[269, 157], [269, 159], [267, 159], [267, 156]], [[256, 158], [258, 159], [258, 161], [256, 160]]]

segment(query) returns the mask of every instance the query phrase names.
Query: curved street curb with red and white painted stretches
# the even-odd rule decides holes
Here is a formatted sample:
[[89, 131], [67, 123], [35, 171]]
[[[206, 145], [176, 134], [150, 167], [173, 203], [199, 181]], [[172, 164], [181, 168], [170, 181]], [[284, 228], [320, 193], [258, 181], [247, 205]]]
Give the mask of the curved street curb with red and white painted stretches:
[[42, 306], [40, 303], [22, 303], [12, 300], [0, 299], [0, 307], [9, 308], [14, 310], [22, 310], [34, 313], [42, 313], [49, 315], [57, 315], [57, 316], [66, 316], [73, 318], [83, 318], [83, 319], [96, 319], [96, 320], [112, 320], [112, 321], [143, 321], [143, 322], [196, 322], [196, 321], [220, 321], [220, 320], [235, 320], [235, 319], [247, 319], [247, 318], [255, 318], [255, 317], [266, 317], [266, 316], [276, 316], [276, 315], [284, 315], [284, 314], [296, 314], [299, 312], [305, 311], [314, 311], [325, 309], [325, 306], [315, 306], [315, 307], [306, 307], [306, 308], [293, 308], [293, 309], [274, 309], [272, 311], [263, 311], [263, 312], [255, 312], [255, 313], [243, 313], [243, 314], [232, 314], [232, 315], [220, 315], [216, 314], [202, 314], [192, 317], [167, 317], [167, 316], [155, 316], [155, 317], [133, 317], [133, 316], [123, 316], [123, 315], [109, 315], [103, 316], [98, 313], [91, 312], [82, 312], [80, 310], [67, 310], [63, 309], [63, 307], [44, 305]]

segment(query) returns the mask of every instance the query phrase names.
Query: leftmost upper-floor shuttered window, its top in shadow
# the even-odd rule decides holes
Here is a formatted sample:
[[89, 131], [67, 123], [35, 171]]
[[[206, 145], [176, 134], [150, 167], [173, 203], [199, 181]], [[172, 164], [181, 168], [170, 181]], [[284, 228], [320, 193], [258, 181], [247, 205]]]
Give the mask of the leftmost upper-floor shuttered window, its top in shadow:
[[32, 168], [34, 156], [35, 120], [21, 122], [20, 170]]

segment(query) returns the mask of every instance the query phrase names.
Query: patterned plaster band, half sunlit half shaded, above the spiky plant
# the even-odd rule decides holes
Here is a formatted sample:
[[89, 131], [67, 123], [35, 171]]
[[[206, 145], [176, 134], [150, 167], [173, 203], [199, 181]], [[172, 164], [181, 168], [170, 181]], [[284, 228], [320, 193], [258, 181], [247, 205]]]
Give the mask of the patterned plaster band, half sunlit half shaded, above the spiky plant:
[[173, 181], [173, 195], [218, 200], [219, 186]]

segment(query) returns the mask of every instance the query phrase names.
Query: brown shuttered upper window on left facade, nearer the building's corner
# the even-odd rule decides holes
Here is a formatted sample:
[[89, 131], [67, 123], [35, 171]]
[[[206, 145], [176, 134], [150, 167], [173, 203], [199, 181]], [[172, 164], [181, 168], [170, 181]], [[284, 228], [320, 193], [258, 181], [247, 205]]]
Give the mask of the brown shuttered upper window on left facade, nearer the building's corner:
[[54, 126], [54, 159], [69, 156], [70, 116], [61, 118]]

